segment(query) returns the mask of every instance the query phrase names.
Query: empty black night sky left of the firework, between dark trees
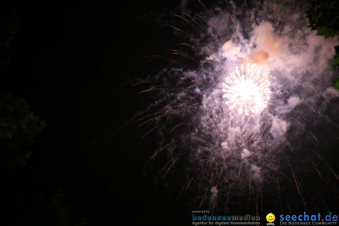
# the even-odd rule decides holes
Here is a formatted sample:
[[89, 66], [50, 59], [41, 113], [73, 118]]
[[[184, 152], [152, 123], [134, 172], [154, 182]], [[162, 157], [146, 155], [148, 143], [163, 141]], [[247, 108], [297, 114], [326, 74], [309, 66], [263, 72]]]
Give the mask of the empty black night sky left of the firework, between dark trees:
[[190, 222], [190, 198], [173, 206], [178, 191], [159, 182], [162, 163], [144, 166], [152, 137], [141, 139], [129, 124], [119, 129], [144, 109], [130, 81], [162, 68], [145, 56], [172, 42], [159, 16], [179, 2], [5, 5], [15, 7], [21, 27], [11, 65], [0, 68], [0, 93], [26, 98], [47, 127], [29, 147], [26, 167], [1, 172], [1, 225], [13, 222], [21, 198], [48, 198], [60, 188], [71, 205], [69, 225], [81, 218], [88, 225]]

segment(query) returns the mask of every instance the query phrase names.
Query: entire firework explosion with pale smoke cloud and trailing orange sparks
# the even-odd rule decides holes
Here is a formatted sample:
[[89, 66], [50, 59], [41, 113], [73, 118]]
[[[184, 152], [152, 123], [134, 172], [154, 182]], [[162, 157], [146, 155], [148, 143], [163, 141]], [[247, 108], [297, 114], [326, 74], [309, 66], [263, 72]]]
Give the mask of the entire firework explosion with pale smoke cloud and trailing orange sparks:
[[316, 36], [296, 1], [188, 4], [165, 23], [177, 42], [147, 56], [167, 66], [133, 87], [150, 99], [134, 125], [158, 145], [155, 186], [216, 214], [336, 208], [336, 39]]

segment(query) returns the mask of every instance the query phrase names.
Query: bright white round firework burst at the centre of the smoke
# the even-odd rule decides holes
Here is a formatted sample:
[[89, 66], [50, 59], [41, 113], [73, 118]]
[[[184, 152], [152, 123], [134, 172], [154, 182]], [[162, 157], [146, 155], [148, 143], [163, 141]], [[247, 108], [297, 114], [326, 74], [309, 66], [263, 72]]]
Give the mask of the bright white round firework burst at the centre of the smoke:
[[233, 103], [231, 108], [239, 105], [238, 111], [241, 114], [245, 111], [258, 112], [267, 107], [267, 101], [270, 100], [270, 81], [268, 81], [268, 72], [260, 75], [262, 67], [260, 65], [248, 63], [246, 64], [246, 72], [244, 73], [244, 65], [241, 64], [241, 74], [238, 67], [235, 67], [231, 75], [226, 78], [226, 83], [222, 91], [225, 93], [223, 98], [228, 98], [226, 104]]

